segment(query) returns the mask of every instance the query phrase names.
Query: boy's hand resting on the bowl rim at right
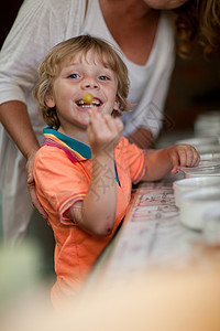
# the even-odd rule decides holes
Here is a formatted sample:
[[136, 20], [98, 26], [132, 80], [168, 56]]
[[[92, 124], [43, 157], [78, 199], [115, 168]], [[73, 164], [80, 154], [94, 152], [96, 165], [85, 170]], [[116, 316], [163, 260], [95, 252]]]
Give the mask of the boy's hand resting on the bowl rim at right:
[[190, 145], [174, 145], [167, 148], [169, 161], [173, 166], [172, 174], [178, 172], [178, 167], [197, 167], [200, 156]]

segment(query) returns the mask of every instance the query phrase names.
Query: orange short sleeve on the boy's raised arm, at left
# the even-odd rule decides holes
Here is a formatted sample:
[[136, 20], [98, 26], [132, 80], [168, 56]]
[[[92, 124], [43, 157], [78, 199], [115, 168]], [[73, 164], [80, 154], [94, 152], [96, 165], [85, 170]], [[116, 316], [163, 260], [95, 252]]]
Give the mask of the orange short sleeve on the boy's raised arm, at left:
[[81, 164], [85, 162], [73, 163], [63, 150], [53, 147], [43, 147], [36, 154], [34, 179], [38, 199], [48, 214], [58, 213], [63, 224], [74, 224], [65, 212], [87, 194], [90, 169]]

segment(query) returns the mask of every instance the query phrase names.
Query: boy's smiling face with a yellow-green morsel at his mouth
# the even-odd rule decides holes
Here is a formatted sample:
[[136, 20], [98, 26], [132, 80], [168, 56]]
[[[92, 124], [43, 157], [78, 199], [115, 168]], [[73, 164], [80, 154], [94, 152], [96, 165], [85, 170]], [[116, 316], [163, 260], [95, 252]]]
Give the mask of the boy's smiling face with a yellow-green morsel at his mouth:
[[[53, 93], [47, 95], [46, 104], [50, 108], [56, 107], [59, 129], [70, 136], [75, 129], [87, 128], [91, 107], [101, 114], [118, 110], [117, 88], [114, 72], [89, 51], [86, 56], [78, 54], [58, 65]], [[85, 93], [94, 96], [91, 105], [84, 103]]]

